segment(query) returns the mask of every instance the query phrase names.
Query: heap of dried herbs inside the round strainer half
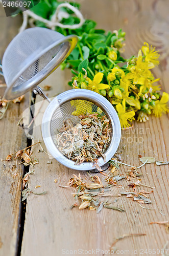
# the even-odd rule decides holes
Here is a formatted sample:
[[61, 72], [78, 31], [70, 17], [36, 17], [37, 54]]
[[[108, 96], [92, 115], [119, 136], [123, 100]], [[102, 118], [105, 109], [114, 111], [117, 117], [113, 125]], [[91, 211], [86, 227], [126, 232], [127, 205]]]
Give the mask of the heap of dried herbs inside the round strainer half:
[[79, 165], [84, 161], [95, 162], [98, 157], [106, 161], [104, 152], [110, 141], [110, 120], [99, 114], [80, 115], [68, 118], [55, 136], [58, 150]]

